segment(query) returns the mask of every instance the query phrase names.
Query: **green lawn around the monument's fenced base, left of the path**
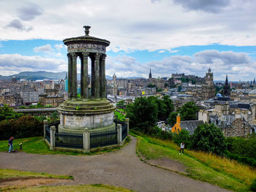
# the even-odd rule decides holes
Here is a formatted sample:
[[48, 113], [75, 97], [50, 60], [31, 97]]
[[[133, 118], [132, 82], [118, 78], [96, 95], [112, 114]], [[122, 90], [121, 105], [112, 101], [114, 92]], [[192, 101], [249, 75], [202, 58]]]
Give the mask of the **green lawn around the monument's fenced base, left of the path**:
[[[126, 144], [129, 142], [130, 138], [127, 137]], [[106, 149], [106, 150], [97, 150], [91, 153], [79, 153], [79, 152], [65, 152], [65, 151], [53, 151], [49, 150], [48, 145], [46, 145], [44, 139], [42, 137], [26, 137], [23, 139], [14, 139], [13, 140], [13, 149], [20, 150], [20, 142], [23, 143], [22, 148], [23, 152], [26, 153], [36, 153], [36, 154], [62, 154], [62, 155], [95, 155], [100, 153], [107, 153], [112, 152], [115, 150], [120, 149], [121, 147], [115, 147], [113, 149]], [[8, 151], [9, 146], [7, 145], [8, 141], [0, 141], [0, 151]]]

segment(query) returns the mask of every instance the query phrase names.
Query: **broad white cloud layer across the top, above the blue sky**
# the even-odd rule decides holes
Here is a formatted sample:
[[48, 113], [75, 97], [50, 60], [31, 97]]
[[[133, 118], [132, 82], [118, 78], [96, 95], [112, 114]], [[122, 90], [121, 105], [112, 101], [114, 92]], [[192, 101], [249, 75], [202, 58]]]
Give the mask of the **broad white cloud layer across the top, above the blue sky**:
[[85, 3], [74, 0], [71, 3], [45, 0], [37, 1], [35, 7], [39, 11], [29, 9], [28, 15], [20, 16], [33, 30], [20, 33], [4, 28], [16, 19], [20, 9], [25, 10], [26, 2], [0, 2], [2, 39], [62, 40], [83, 35], [83, 25], [91, 25], [90, 34], [110, 40], [108, 50], [113, 51], [167, 50], [213, 43], [255, 45], [256, 42], [255, 1], [87, 0]]

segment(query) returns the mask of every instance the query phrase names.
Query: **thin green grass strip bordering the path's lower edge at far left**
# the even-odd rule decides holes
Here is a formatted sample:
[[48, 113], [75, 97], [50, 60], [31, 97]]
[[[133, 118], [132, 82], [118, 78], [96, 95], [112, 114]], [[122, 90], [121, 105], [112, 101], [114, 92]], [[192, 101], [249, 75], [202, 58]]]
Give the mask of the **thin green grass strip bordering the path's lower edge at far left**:
[[37, 172], [22, 172], [13, 169], [0, 169], [0, 181], [7, 180], [10, 178], [18, 177], [43, 177], [43, 178], [56, 178], [56, 179], [74, 179], [72, 176], [65, 175], [53, 175], [47, 173], [37, 173]]

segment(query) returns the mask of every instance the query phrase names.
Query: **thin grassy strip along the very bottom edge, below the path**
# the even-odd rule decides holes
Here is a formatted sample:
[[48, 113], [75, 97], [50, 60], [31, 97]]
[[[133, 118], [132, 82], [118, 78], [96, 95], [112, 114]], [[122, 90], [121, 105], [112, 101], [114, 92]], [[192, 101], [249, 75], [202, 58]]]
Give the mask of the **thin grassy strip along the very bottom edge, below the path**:
[[102, 185], [102, 184], [94, 184], [94, 185], [72, 185], [72, 186], [41, 186], [41, 187], [31, 187], [31, 188], [14, 188], [7, 189], [7, 191], [15, 191], [15, 192], [129, 192], [126, 188], [121, 187], [113, 187], [110, 185]]

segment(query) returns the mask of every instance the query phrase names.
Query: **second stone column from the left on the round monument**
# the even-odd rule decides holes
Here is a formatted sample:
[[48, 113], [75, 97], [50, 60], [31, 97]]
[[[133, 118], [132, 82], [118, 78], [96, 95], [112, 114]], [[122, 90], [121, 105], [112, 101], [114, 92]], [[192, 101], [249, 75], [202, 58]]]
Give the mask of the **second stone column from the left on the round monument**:
[[77, 57], [76, 53], [71, 53], [72, 56], [72, 101], [78, 100], [78, 77], [77, 77]]

